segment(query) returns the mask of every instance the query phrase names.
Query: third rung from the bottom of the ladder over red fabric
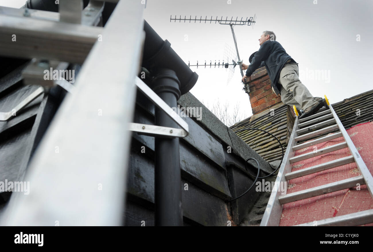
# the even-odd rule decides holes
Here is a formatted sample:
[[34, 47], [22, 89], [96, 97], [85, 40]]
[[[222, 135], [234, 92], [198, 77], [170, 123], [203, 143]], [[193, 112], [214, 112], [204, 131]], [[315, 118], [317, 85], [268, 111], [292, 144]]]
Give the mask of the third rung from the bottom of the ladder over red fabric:
[[311, 166], [308, 168], [304, 168], [301, 170], [296, 170], [294, 172], [289, 172], [285, 174], [285, 180], [299, 178], [305, 175], [309, 175], [316, 172], [321, 172], [323, 170], [332, 169], [341, 165], [346, 165], [349, 163], [353, 163], [355, 161], [354, 156], [342, 157], [340, 159], [335, 159], [326, 163], [322, 163], [320, 165]]

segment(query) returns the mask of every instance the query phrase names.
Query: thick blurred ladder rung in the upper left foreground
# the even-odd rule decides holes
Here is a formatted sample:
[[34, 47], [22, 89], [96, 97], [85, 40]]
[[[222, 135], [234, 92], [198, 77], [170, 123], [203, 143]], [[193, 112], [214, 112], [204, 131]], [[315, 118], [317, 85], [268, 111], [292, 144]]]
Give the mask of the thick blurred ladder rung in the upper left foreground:
[[[83, 63], [102, 27], [0, 14], [0, 55]], [[16, 42], [12, 42], [16, 34]]]

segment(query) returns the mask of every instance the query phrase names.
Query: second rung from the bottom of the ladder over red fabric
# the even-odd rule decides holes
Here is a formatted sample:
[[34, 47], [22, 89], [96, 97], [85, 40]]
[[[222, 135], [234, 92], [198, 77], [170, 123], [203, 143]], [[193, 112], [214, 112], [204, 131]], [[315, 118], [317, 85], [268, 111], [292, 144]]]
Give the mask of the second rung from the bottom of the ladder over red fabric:
[[356, 186], [356, 184], [365, 185], [363, 176], [356, 176], [341, 181], [336, 181], [330, 184], [316, 186], [310, 189], [281, 195], [279, 197], [279, 202], [282, 205], [297, 200], [304, 200], [318, 195], [327, 194], [329, 192], [336, 192], [342, 189], [351, 188]]

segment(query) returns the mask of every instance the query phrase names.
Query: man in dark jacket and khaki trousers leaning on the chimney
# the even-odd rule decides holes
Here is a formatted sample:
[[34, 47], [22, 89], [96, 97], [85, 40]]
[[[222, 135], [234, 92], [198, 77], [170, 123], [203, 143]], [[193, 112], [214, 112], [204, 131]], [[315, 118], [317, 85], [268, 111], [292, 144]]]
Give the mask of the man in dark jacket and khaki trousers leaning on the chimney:
[[259, 45], [250, 65], [242, 64], [242, 69], [247, 70], [242, 82], [245, 82], [245, 78], [251, 81], [251, 74], [259, 67], [266, 66], [273, 92], [281, 95], [283, 103], [303, 109], [304, 113], [299, 118], [313, 115], [322, 108], [322, 98], [313, 97], [301, 83], [298, 63], [276, 41], [276, 35], [271, 31], [264, 31], [259, 38]]

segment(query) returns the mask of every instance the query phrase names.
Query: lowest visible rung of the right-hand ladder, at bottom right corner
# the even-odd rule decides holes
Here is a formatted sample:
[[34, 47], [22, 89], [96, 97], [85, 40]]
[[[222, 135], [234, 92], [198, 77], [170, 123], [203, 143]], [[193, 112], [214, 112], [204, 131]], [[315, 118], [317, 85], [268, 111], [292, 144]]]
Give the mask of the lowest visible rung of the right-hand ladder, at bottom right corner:
[[358, 226], [373, 222], [373, 209], [317, 220], [295, 226]]

